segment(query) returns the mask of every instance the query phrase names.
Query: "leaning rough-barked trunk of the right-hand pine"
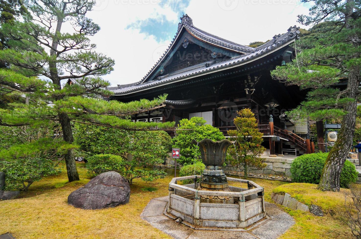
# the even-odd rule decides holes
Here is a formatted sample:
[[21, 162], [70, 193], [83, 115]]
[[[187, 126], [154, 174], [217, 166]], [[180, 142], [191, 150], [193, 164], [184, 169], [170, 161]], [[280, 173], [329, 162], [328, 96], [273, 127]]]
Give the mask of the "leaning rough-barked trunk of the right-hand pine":
[[355, 99], [355, 102], [348, 104], [345, 107], [347, 114], [343, 117], [342, 126], [337, 135], [337, 141], [326, 159], [325, 166], [322, 170], [321, 180], [318, 184], [318, 189], [322, 191], [340, 191], [341, 170], [349, 153], [353, 132], [355, 131], [357, 110], [356, 98], [358, 85], [360, 84], [359, 77], [359, 71], [349, 73], [347, 96]]

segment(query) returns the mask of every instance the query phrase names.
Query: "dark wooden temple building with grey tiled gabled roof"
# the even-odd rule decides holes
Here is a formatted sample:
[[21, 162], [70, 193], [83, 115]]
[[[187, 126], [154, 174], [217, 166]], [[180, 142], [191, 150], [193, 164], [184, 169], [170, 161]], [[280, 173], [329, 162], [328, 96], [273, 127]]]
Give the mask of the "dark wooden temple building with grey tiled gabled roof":
[[178, 124], [183, 118], [200, 116], [226, 136], [234, 129], [236, 111], [250, 108], [269, 154], [310, 153], [308, 122], [293, 122], [284, 114], [297, 107], [307, 92], [270, 75], [276, 66], [295, 58], [292, 45], [299, 33], [299, 27], [293, 26], [251, 48], [205, 32], [183, 15], [173, 41], [152, 69], [138, 82], [108, 87], [114, 92], [110, 99], [130, 102], [168, 94], [166, 107], [133, 120]]

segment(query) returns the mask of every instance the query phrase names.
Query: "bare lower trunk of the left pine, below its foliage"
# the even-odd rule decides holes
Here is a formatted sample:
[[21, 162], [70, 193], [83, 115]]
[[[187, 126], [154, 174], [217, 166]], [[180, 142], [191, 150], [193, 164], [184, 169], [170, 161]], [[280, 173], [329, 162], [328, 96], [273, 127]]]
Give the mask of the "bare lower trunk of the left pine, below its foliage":
[[[64, 140], [68, 143], [73, 143], [73, 132], [70, 125], [70, 119], [66, 113], [59, 114], [61, 129], [63, 131]], [[74, 150], [69, 149], [65, 154], [66, 172], [68, 173], [69, 182], [79, 180], [77, 171], [77, 164], [75, 163]]]

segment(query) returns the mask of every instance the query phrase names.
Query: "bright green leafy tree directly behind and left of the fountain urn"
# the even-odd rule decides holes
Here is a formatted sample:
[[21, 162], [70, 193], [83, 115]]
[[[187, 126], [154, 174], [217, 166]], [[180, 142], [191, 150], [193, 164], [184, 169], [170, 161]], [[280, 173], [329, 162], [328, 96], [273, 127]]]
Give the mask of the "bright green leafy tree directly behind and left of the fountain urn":
[[178, 129], [189, 130], [177, 130], [177, 135], [173, 138], [173, 146], [181, 149], [181, 158], [177, 162], [191, 164], [195, 159], [200, 159], [201, 152], [199, 148], [196, 150], [197, 145], [191, 143], [193, 139], [198, 142], [203, 139], [213, 141], [225, 139], [219, 128], [205, 125], [206, 122], [202, 117], [192, 117], [190, 120], [182, 119], [179, 121]]

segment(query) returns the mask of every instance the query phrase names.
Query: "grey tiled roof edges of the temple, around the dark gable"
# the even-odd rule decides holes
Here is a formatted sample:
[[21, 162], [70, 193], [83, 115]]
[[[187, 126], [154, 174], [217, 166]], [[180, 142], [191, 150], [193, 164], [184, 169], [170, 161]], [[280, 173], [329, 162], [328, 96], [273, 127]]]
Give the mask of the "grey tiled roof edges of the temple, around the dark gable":
[[[273, 40], [270, 40], [268, 42], [266, 42], [265, 44], [257, 47], [257, 48], [250, 48], [248, 46], [243, 46], [243, 45], [239, 45], [236, 44], [234, 42], [231, 41], [227, 41], [225, 39], [222, 39], [220, 37], [216, 37], [214, 35], [211, 35], [209, 33], [206, 33], [204, 31], [201, 31], [198, 28], [193, 27], [193, 23], [192, 23], [192, 19], [189, 18], [187, 15], [184, 15], [182, 18], [182, 23], [178, 24], [178, 32], [181, 31], [182, 28], [186, 27], [192, 27], [192, 29], [196, 32], [202, 33], [203, 35], [207, 35], [208, 39], [207, 41], [213, 41], [214, 39], [218, 39], [217, 42], [214, 42], [216, 44], [223, 44], [224, 47], [226, 48], [239, 48], [238, 50], [240, 50], [240, 48], [242, 48], [242, 50], [246, 51], [249, 50], [246, 54], [241, 55], [239, 57], [234, 57], [231, 59], [226, 59], [226, 60], [221, 60], [221, 61], [210, 61], [207, 62], [208, 64], [202, 64], [200, 66], [195, 66], [193, 68], [186, 68], [184, 69], [184, 71], [177, 71], [174, 73], [170, 73], [168, 75], [165, 76], [161, 76], [156, 78], [156, 80], [152, 80], [149, 82], [143, 82], [144, 79], [146, 77], [149, 76], [149, 74], [153, 71], [154, 68], [156, 68], [157, 64], [161, 61], [162, 58], [164, 58], [164, 56], [168, 53], [169, 49], [171, 48], [171, 45], [174, 43], [177, 35], [175, 36], [175, 39], [173, 39], [173, 41], [171, 42], [171, 44], [169, 45], [169, 48], [166, 50], [166, 52], [163, 54], [163, 57], [160, 58], [160, 60], [155, 64], [155, 66], [147, 73], [147, 75], [143, 78], [142, 81], [140, 82], [136, 82], [133, 84], [127, 84], [127, 85], [119, 85], [116, 89], [112, 89], [112, 91], [114, 92], [114, 95], [124, 95], [124, 94], [130, 94], [134, 91], [139, 91], [139, 90], [143, 90], [143, 89], [147, 89], [150, 87], [155, 87], [155, 86], [161, 86], [164, 84], [169, 84], [169, 82], [172, 81], [178, 81], [181, 80], [183, 78], [187, 78], [187, 77], [191, 77], [191, 76], [196, 76], [196, 75], [200, 75], [203, 73], [208, 73], [208, 72], [213, 72], [216, 71], [218, 69], [222, 69], [222, 68], [226, 68], [226, 67], [230, 67], [230, 66], [237, 66], [237, 65], [241, 65], [244, 64], [245, 62], [248, 62], [254, 58], [257, 57], [261, 57], [262, 55], [266, 55], [267, 53], [269, 53], [270, 51], [280, 48], [284, 45], [287, 45], [288, 42], [292, 41], [293, 39], [295, 39], [297, 37], [297, 34], [299, 34], [299, 27], [293, 26], [288, 28], [287, 32], [284, 33], [283, 35], [276, 35], [274, 36]], [[214, 40], [215, 41], [215, 40]]]

